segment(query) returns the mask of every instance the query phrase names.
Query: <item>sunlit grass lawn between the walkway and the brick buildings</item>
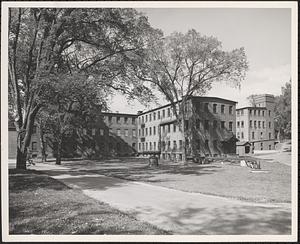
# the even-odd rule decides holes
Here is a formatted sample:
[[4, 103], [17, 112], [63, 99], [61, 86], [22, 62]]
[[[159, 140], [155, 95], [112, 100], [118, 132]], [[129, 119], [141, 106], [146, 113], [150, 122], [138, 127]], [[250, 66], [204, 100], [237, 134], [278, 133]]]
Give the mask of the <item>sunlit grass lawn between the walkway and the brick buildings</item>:
[[149, 168], [146, 159], [63, 162], [73, 170], [99, 173], [122, 179], [147, 182], [188, 192], [199, 192], [252, 202], [291, 202], [291, 167], [261, 161], [267, 173], [251, 173], [239, 164], [211, 163], [187, 166], [160, 162]]

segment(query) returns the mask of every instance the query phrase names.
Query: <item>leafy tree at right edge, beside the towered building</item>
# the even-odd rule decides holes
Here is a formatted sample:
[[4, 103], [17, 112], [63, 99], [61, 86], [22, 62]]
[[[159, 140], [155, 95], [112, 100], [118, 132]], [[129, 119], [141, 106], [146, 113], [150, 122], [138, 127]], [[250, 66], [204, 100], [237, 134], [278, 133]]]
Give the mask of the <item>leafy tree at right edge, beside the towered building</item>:
[[278, 139], [291, 138], [291, 80], [281, 88], [281, 95], [275, 97], [275, 130]]

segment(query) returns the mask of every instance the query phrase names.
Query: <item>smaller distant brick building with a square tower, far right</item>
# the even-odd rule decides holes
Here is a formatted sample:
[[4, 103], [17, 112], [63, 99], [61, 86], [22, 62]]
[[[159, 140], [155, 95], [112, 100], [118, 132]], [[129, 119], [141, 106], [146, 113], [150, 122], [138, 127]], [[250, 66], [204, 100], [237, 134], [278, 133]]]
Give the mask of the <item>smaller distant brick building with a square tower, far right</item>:
[[240, 141], [250, 142], [254, 150], [272, 150], [274, 136], [274, 96], [254, 96], [251, 107], [236, 110], [236, 136]]

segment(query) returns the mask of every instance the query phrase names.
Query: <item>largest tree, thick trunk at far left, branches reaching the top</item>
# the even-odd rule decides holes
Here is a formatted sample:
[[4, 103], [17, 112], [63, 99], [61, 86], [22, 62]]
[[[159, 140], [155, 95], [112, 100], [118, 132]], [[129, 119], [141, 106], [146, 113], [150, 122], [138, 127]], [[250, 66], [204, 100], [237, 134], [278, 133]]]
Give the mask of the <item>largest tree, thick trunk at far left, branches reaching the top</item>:
[[127, 72], [123, 61], [136, 59], [152, 32], [147, 18], [133, 9], [9, 9], [8, 82], [18, 132], [17, 168], [26, 168], [33, 125], [51, 98], [52, 77], [77, 71], [92, 74], [101, 88], [130, 96], [150, 91], [140, 82], [120, 79]]

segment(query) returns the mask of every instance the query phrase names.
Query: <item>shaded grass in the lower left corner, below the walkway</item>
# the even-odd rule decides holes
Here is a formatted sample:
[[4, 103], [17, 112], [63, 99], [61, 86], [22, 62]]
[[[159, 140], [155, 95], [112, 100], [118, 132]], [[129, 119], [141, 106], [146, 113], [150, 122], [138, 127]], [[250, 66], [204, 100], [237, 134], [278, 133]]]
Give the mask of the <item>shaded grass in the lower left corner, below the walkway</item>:
[[9, 170], [10, 234], [168, 234], [34, 170]]

